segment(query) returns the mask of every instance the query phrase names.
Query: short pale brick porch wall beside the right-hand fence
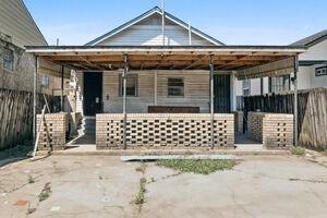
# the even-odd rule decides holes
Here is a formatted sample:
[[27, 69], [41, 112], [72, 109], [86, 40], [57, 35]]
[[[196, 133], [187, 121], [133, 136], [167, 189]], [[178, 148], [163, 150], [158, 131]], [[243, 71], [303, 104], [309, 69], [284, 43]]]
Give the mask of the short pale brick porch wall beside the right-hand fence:
[[268, 148], [293, 145], [293, 114], [249, 112], [249, 137], [263, 142]]

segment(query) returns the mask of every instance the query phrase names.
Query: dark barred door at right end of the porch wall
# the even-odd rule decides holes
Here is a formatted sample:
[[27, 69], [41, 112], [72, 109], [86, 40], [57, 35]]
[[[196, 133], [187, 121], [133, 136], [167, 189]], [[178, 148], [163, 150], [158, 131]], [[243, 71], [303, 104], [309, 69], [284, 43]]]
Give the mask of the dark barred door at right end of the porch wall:
[[230, 75], [214, 75], [215, 112], [230, 112]]

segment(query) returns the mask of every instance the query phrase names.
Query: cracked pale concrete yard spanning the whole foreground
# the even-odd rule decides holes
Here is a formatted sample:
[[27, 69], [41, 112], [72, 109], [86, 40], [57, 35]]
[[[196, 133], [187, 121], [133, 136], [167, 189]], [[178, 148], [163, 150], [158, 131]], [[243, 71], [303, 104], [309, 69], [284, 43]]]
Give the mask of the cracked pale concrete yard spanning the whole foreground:
[[[108, 156], [21, 160], [0, 169], [0, 217], [326, 217], [326, 158], [243, 158], [233, 170], [209, 175], [154, 162], [143, 174], [141, 164]], [[140, 208], [133, 201], [142, 177]]]

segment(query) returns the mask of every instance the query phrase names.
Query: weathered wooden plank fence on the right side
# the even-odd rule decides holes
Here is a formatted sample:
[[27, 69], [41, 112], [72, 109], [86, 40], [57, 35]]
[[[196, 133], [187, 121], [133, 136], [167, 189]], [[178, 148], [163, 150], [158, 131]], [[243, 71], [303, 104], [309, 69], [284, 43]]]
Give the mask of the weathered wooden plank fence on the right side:
[[[298, 94], [299, 145], [327, 149], [327, 88], [301, 90]], [[244, 130], [249, 111], [293, 113], [293, 94], [270, 94], [243, 98]]]

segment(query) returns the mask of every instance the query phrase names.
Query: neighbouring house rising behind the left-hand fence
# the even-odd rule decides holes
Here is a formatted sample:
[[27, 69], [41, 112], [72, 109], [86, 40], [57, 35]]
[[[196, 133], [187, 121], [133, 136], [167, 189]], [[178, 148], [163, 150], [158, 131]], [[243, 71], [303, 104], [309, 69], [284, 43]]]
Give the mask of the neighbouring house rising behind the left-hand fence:
[[[0, 88], [33, 92], [35, 56], [25, 46], [47, 46], [47, 41], [23, 0], [0, 1]], [[59, 95], [61, 66], [40, 62], [38, 92]], [[70, 71], [65, 69], [64, 83]]]

